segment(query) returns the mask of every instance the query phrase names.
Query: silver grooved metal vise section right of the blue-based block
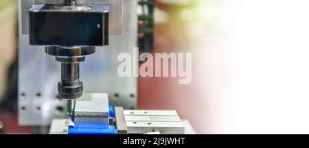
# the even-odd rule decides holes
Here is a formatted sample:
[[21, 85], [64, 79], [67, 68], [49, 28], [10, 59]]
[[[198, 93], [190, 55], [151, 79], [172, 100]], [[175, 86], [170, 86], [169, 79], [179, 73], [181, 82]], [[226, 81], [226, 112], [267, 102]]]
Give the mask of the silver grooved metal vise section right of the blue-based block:
[[175, 110], [124, 110], [128, 134], [185, 134]]

